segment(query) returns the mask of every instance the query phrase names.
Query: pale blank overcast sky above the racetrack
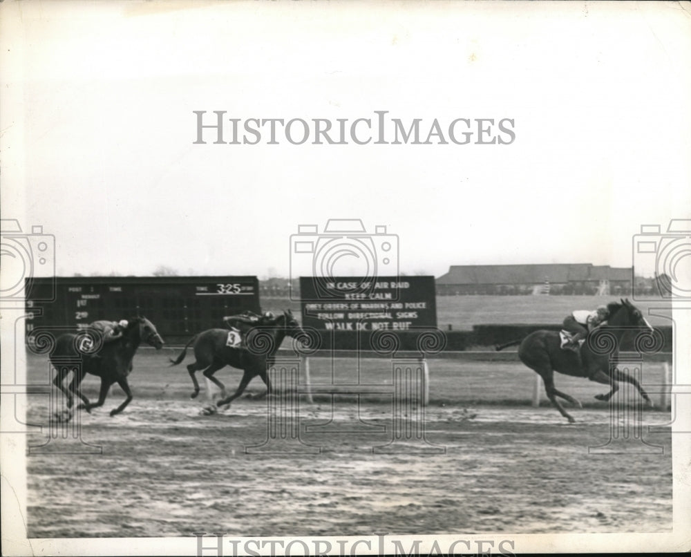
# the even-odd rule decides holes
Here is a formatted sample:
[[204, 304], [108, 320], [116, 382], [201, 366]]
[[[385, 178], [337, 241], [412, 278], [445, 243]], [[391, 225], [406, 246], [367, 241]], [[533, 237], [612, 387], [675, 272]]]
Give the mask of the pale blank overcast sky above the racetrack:
[[[291, 234], [329, 218], [386, 225], [410, 274], [630, 266], [641, 224], [691, 217], [678, 4], [160, 6], [3, 12], [2, 216], [55, 235], [57, 274], [287, 275]], [[515, 141], [193, 144], [217, 110], [510, 118]]]

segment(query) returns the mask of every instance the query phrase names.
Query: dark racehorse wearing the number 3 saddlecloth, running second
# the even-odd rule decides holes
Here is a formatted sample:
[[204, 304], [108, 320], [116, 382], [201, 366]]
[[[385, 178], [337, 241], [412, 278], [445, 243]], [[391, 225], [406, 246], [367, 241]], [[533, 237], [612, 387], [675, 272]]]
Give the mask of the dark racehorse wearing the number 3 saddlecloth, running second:
[[[270, 339], [265, 336], [262, 337], [262, 333], [268, 333]], [[258, 334], [255, 341], [252, 341], [253, 334]], [[196, 398], [199, 394], [199, 383], [195, 373], [204, 370], [204, 377], [211, 380], [221, 390], [221, 399], [216, 402], [216, 406], [224, 406], [242, 395], [249, 381], [252, 381], [257, 375], [261, 377], [266, 385], [266, 394], [271, 392], [271, 385], [267, 376], [267, 363], [272, 363], [273, 357], [285, 337], [306, 338], [300, 323], [293, 317], [290, 310], [286, 310], [273, 321], [267, 322], [267, 325], [256, 327], [248, 332], [247, 339], [250, 344], [256, 343], [258, 348], [268, 348], [267, 350], [227, 346], [227, 329], [208, 329], [189, 339], [180, 355], [174, 360], [171, 359], [171, 365], [177, 366], [180, 364], [187, 355], [187, 348], [189, 348], [191, 343], [194, 343], [194, 357], [196, 361], [187, 366], [189, 377], [191, 377], [192, 384], [194, 385], [194, 391], [190, 398]], [[225, 385], [214, 377], [214, 373], [225, 366], [232, 366], [243, 370], [243, 378], [240, 379], [240, 385], [235, 393], [229, 397], [226, 396]]]

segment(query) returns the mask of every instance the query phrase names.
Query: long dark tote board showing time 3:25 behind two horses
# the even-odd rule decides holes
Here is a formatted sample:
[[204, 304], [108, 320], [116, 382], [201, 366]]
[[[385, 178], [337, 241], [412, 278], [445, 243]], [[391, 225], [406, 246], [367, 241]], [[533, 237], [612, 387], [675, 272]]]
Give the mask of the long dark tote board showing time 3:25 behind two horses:
[[223, 317], [259, 312], [256, 276], [75, 276], [32, 279], [26, 294], [27, 336], [34, 328], [70, 326], [141, 315], [167, 343], [187, 342], [223, 327]]

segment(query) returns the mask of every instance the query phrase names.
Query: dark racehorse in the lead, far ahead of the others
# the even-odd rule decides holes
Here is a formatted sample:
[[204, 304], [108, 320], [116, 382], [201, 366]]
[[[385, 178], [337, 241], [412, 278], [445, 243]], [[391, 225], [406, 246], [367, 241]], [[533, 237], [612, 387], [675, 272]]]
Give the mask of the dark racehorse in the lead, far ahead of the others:
[[[621, 300], [621, 303], [613, 302], [608, 304], [607, 311], [609, 312], [607, 324], [603, 324], [587, 334], [585, 342], [580, 347], [580, 353], [560, 348], [561, 339], [559, 332], [549, 330], [531, 332], [524, 339], [508, 342], [496, 348], [497, 350], [503, 350], [507, 346], [515, 346], [520, 343], [518, 347], [520, 361], [532, 370], [535, 370], [542, 377], [542, 381], [545, 383], [545, 392], [550, 402], [571, 424], [576, 422], [576, 420], [562, 407], [556, 397], [561, 397], [580, 408], [583, 408], [583, 406], [574, 397], [557, 390], [554, 386], [554, 371], [573, 377], [587, 377], [590, 381], [609, 385], [611, 388], [609, 393], [596, 395], [595, 397], [603, 401], [608, 401], [616, 393], [619, 388], [617, 381], [626, 381], [632, 384], [638, 390], [638, 393], [641, 393], [641, 397], [643, 397], [648, 406], [653, 406], [650, 397], [648, 397], [645, 390], [643, 390], [634, 377], [614, 368], [614, 366], [610, 369], [609, 366], [610, 358], [616, 358], [618, 355], [621, 337], [623, 337], [627, 330], [638, 329], [652, 332], [653, 328], [645, 320], [641, 310], [638, 310], [628, 299]], [[602, 334], [611, 334], [616, 339], [612, 354], [598, 354], [592, 350], [592, 346], [598, 346], [598, 339], [595, 335]], [[605, 337], [600, 337], [600, 339], [603, 339], [603, 342], [605, 342]]]

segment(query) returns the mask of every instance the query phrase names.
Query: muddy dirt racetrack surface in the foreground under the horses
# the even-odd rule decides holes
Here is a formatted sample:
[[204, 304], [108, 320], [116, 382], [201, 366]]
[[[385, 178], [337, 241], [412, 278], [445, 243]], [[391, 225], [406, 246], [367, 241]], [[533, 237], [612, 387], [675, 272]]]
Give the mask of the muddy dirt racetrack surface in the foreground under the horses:
[[[162, 361], [153, 351], [135, 357], [135, 398], [121, 415], [108, 416], [123, 398], [119, 388], [103, 408], [82, 414], [82, 440], [101, 446], [102, 454], [57, 453], [67, 445], [53, 440], [46, 453], [28, 456], [30, 538], [671, 530], [669, 427], [643, 430], [645, 442], [661, 446], [662, 454], [591, 454], [589, 446], [609, 440], [603, 403], [574, 408], [575, 425], [549, 406], [482, 400], [470, 406], [463, 397], [451, 399], [453, 388], [465, 388], [472, 377], [463, 381], [462, 368], [453, 375], [433, 368], [424, 425], [428, 442], [443, 448], [439, 453], [415, 453], [408, 445], [399, 453], [373, 453], [392, 438], [390, 398], [357, 404], [357, 397], [341, 397], [333, 405], [301, 399], [301, 438], [321, 446], [321, 454], [246, 454], [245, 446], [267, 439], [266, 400], [239, 399], [225, 412], [200, 415], [202, 404], [189, 400], [187, 371]], [[502, 365], [515, 369], [502, 372]], [[530, 391], [532, 372], [518, 364], [468, 366], [485, 370], [476, 373], [472, 393], [491, 393], [501, 377], [515, 397]], [[40, 377], [46, 361], [30, 357], [28, 368]], [[225, 368], [218, 377], [234, 388], [240, 373]], [[572, 394], [580, 381], [588, 399], [601, 390], [559, 380]], [[252, 388], [261, 390], [256, 381]], [[95, 397], [97, 386], [87, 377], [84, 392]], [[586, 402], [585, 393], [578, 396]], [[29, 398], [29, 422], [46, 425], [48, 397]], [[665, 424], [669, 416], [646, 411], [642, 423]], [[305, 431], [306, 424], [329, 420]], [[29, 442], [46, 439], [30, 435]]]

